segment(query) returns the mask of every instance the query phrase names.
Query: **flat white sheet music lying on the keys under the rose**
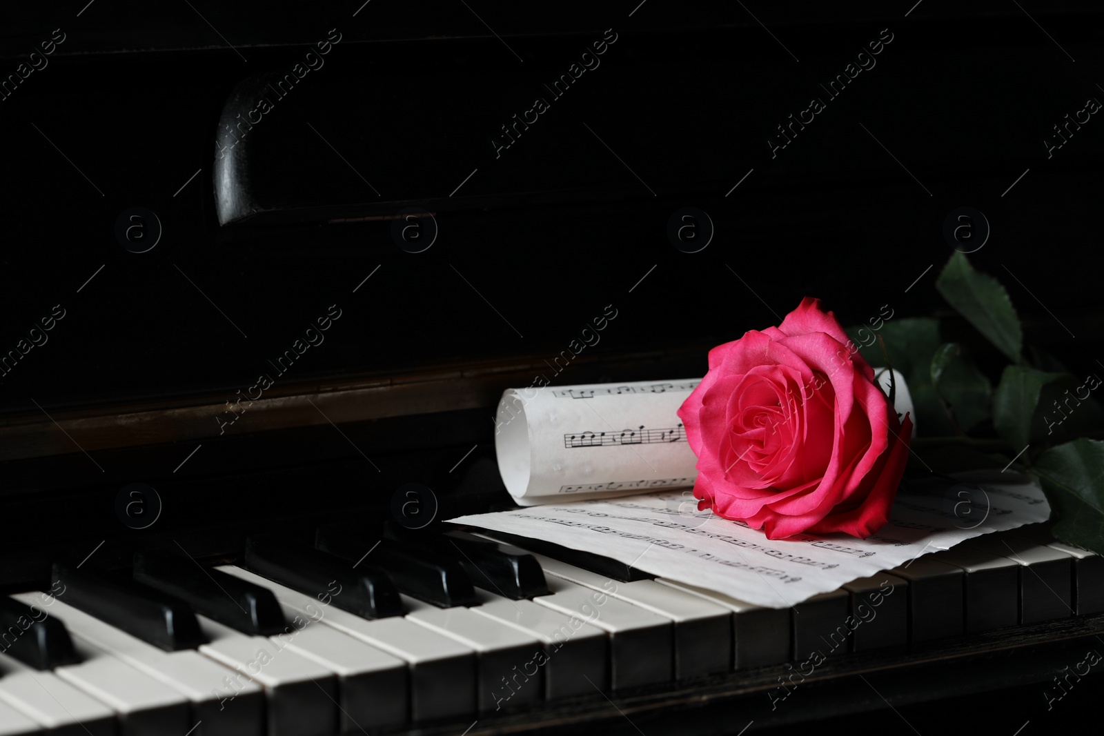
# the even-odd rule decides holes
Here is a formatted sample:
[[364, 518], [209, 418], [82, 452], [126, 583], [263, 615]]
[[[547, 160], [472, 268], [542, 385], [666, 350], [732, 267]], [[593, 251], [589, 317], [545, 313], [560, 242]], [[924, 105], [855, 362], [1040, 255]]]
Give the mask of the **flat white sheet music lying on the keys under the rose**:
[[[767, 608], [786, 608], [858, 577], [995, 531], [1045, 521], [1042, 489], [1015, 473], [962, 473], [972, 486], [899, 492], [890, 522], [858, 540], [767, 540], [742, 522], [696, 511], [690, 491], [558, 503], [452, 521], [613, 557]], [[981, 490], [977, 490], [977, 488]]]

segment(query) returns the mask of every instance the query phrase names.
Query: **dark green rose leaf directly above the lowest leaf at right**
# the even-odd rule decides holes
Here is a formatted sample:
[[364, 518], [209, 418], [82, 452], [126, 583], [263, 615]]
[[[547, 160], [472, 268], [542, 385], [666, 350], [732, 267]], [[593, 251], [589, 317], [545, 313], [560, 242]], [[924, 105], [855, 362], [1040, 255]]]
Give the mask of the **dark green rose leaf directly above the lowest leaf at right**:
[[[1100, 426], [1101, 408], [1068, 373], [1009, 365], [992, 396], [992, 424], [1015, 447], [1066, 439]], [[1087, 397], [1087, 398], [1085, 398]]]

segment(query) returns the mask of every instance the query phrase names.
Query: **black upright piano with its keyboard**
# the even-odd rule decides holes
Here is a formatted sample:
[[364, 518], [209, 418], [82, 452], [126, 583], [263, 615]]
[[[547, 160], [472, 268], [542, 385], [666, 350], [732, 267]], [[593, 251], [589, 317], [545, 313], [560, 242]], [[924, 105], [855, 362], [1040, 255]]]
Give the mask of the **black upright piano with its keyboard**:
[[0, 734], [1094, 713], [1104, 565], [1044, 529], [776, 611], [445, 520], [509, 508], [505, 388], [938, 313], [955, 247], [1095, 371], [1097, 7], [0, 14]]

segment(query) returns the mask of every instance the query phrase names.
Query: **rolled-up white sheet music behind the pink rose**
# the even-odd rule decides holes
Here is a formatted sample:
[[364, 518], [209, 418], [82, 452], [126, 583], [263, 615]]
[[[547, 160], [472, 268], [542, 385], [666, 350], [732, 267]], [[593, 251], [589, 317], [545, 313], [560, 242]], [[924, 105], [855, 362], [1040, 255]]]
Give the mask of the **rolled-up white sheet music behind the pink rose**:
[[[912, 412], [893, 374], [895, 408]], [[523, 506], [692, 487], [698, 459], [677, 412], [699, 382], [506, 390], [495, 436], [502, 482]], [[884, 369], [879, 382], [889, 390]]]

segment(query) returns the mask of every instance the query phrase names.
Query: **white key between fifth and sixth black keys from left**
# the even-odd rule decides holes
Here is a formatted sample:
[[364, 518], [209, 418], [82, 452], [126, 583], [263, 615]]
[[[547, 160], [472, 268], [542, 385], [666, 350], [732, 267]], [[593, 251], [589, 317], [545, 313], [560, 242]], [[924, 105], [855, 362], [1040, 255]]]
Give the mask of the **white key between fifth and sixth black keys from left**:
[[[609, 687], [609, 641], [606, 632], [577, 616], [569, 616], [532, 600], [511, 600], [477, 593], [480, 605], [470, 610], [511, 626], [543, 646], [543, 658], [534, 658], [544, 673], [544, 697], [555, 700], [591, 695], [594, 687]], [[522, 670], [527, 670], [522, 665]], [[593, 685], [591, 683], [594, 683]]]

